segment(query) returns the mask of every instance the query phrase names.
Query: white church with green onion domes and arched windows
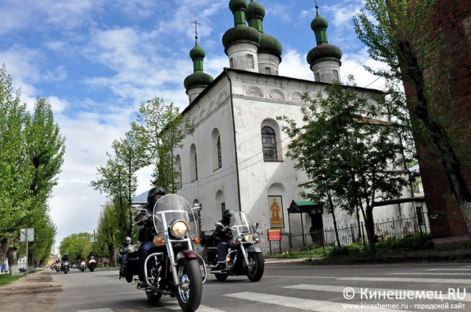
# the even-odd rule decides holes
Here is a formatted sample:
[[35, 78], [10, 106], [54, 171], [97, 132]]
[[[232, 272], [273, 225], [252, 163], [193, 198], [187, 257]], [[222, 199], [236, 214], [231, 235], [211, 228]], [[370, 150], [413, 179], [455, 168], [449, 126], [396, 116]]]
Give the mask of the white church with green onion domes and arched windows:
[[[229, 9], [227, 18], [232, 13], [234, 27], [222, 38], [229, 67], [213, 78], [204, 72], [205, 52], [197, 38], [190, 51], [193, 73], [184, 81], [189, 104], [181, 114], [192, 132], [174, 150], [177, 193], [190, 204], [202, 204], [204, 230], [214, 228], [225, 209], [244, 211], [259, 224], [265, 253], [271, 251], [267, 236], [273, 229], [281, 231], [283, 251], [288, 248], [288, 234], [292, 235], [290, 247], [299, 248], [306, 243], [303, 233], [309, 228], [330, 228], [333, 221], [330, 214], [322, 213], [322, 206], [301, 197], [302, 185], [309, 181], [285, 155], [290, 139], [276, 118], [288, 116], [302, 123], [301, 107], [306, 105], [302, 96], [308, 93], [314, 98], [341, 77], [342, 52], [329, 44], [328, 22], [316, 4], [311, 29], [317, 45], [306, 58], [313, 80], [282, 77], [278, 65], [283, 48], [264, 33], [264, 7], [254, 0], [231, 0]], [[357, 91], [365, 97], [381, 93], [367, 88]], [[412, 194], [405, 189], [403, 196]], [[304, 213], [290, 215], [288, 208], [293, 207], [304, 207]], [[413, 203], [386, 205], [375, 208], [375, 214], [396, 216], [413, 209]], [[336, 212], [336, 219], [339, 226], [357, 224], [357, 218], [346, 212]], [[334, 235], [326, 240], [323, 243], [334, 242]]]

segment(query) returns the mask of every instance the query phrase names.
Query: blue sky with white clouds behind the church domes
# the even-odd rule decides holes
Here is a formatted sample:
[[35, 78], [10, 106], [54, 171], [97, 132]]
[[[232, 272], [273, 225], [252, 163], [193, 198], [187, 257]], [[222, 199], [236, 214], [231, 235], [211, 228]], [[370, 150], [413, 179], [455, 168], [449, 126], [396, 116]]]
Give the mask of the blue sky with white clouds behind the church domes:
[[[312, 0], [260, 0], [264, 33], [283, 46], [279, 74], [313, 80], [306, 54], [315, 47]], [[319, 0], [329, 21], [329, 43], [343, 52], [341, 79], [354, 75], [358, 86], [383, 88], [364, 70], [380, 67], [354, 33], [352, 17], [363, 0]], [[2, 0], [0, 65], [21, 88], [33, 109], [47, 97], [66, 138], [66, 154], [50, 214], [57, 242], [93, 233], [105, 194], [89, 186], [106, 163], [112, 141], [124, 137], [142, 102], [162, 98], [181, 110], [188, 105], [183, 81], [193, 72], [189, 52], [205, 50], [204, 72], [216, 78], [229, 61], [221, 38], [234, 26], [228, 0]], [[138, 173], [137, 194], [150, 186], [151, 169]]]

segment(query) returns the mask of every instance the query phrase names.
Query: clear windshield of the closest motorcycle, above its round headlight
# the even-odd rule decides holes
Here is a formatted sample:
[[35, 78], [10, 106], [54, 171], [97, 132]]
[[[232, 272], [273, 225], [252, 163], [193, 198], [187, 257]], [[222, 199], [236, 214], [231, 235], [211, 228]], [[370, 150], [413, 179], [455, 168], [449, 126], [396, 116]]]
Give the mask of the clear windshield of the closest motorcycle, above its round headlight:
[[177, 194], [167, 194], [158, 199], [154, 206], [154, 226], [157, 233], [164, 233], [175, 220], [188, 224], [188, 234], [193, 237], [198, 233], [195, 215], [185, 198]]

